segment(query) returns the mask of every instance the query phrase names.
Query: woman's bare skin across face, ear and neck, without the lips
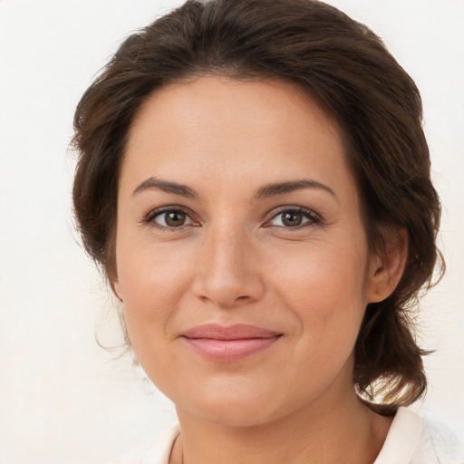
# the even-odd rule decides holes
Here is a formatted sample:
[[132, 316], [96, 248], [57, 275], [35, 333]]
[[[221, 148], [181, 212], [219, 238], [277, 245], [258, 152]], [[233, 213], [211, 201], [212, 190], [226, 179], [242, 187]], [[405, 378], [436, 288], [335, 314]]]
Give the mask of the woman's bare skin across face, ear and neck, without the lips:
[[[316, 184], [254, 196], [299, 179]], [[160, 207], [186, 214], [167, 222]], [[284, 220], [295, 208], [309, 215]], [[113, 285], [138, 360], [176, 404], [171, 462], [373, 462], [391, 420], [356, 396], [353, 347], [406, 250], [371, 253], [360, 211], [336, 122], [295, 84], [202, 76], [145, 102], [121, 167]], [[212, 322], [282, 336], [211, 362], [181, 335]]]

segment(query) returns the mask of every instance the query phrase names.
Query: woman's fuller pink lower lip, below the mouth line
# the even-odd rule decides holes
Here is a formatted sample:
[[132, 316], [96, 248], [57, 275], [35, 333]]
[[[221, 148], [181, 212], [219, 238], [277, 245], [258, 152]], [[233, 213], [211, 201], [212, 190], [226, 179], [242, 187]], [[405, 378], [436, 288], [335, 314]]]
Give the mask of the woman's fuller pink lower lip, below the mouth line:
[[248, 356], [260, 353], [278, 339], [279, 335], [266, 338], [245, 338], [239, 340], [216, 340], [212, 338], [187, 338], [189, 347], [203, 358], [216, 362], [241, 361]]

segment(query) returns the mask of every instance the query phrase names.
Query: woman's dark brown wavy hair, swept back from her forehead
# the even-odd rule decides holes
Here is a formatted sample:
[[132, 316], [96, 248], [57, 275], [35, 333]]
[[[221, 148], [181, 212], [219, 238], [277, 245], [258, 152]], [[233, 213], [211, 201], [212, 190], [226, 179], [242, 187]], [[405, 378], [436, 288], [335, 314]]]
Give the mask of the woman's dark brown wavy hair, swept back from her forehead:
[[[409, 237], [399, 285], [366, 309], [353, 383], [383, 414], [418, 400], [427, 386], [426, 352], [415, 341], [411, 308], [430, 287], [437, 259], [443, 268], [420, 94], [379, 37], [332, 6], [189, 0], [122, 43], [75, 113], [80, 157], [73, 202], [85, 249], [111, 282], [118, 177], [131, 121], [155, 90], [204, 74], [296, 82], [339, 122], [371, 249], [382, 251], [385, 227], [403, 228]], [[376, 395], [377, 405], [369, 402], [379, 401]]]

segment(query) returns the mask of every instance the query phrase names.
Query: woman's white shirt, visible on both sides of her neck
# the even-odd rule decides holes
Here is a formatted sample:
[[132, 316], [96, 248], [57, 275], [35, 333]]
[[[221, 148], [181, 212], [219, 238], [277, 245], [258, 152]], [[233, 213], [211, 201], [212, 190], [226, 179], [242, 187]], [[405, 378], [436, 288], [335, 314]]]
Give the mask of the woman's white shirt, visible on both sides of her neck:
[[[170, 450], [179, 435], [174, 425], [157, 440], [111, 464], [169, 464]], [[373, 464], [464, 464], [457, 456], [458, 443], [446, 430], [400, 408]]]

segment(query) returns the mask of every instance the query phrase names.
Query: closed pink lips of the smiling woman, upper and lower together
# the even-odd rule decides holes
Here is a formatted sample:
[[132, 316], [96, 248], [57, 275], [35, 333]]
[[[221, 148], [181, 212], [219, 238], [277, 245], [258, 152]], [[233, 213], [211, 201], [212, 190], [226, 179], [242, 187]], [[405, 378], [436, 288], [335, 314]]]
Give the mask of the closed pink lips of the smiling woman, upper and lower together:
[[248, 324], [198, 325], [182, 333], [189, 347], [203, 358], [216, 362], [240, 361], [266, 350], [279, 340], [277, 333]]

